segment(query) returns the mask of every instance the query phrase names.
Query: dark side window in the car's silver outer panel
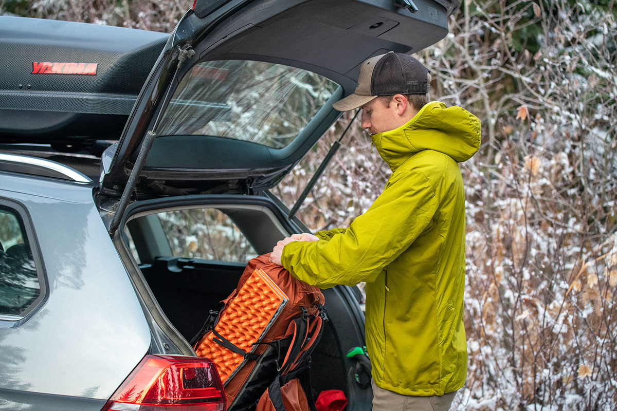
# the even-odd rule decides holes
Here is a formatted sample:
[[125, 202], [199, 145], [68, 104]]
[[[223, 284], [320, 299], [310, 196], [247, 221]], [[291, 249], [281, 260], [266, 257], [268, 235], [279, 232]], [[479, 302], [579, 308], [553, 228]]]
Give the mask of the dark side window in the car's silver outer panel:
[[0, 314], [27, 314], [41, 297], [41, 282], [22, 215], [0, 205]]

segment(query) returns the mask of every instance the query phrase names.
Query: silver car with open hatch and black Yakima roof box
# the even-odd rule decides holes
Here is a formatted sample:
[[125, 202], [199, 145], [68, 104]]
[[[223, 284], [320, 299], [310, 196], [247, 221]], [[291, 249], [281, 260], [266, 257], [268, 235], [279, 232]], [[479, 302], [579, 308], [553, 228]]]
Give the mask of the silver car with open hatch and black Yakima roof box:
[[[360, 62], [439, 41], [455, 7], [197, 0], [171, 35], [0, 17], [0, 410], [225, 409], [189, 341], [308, 231], [270, 189]], [[313, 394], [370, 410], [358, 291], [323, 291]]]

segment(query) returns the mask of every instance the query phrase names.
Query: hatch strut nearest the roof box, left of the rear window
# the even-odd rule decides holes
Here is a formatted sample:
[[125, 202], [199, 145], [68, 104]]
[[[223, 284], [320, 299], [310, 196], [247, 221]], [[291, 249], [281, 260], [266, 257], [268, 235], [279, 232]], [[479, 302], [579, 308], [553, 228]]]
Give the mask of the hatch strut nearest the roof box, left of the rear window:
[[[170, 80], [170, 84], [172, 84], [173, 81], [178, 77], [178, 68], [180, 68], [184, 60], [186, 60], [187, 58], [190, 59], [195, 55], [195, 51], [189, 45], [185, 45], [181, 48], [180, 46], [176, 46], [176, 49], [178, 51], [178, 55], [176, 56], [176, 59], [178, 59], [178, 65], [176, 66], [176, 70], [174, 71], [172, 79]], [[154, 120], [154, 124], [152, 124], [152, 130], [146, 132], [146, 137], [144, 137], [144, 141], [141, 144], [137, 159], [135, 160], [135, 165], [133, 165], [133, 169], [131, 169], [131, 174], [128, 176], [128, 180], [126, 181], [124, 191], [122, 192], [122, 197], [120, 197], [118, 208], [114, 213], [114, 218], [112, 219], [112, 222], [110, 222], [109, 224], [108, 232], [111, 237], [114, 237], [115, 231], [118, 229], [118, 226], [120, 226], [120, 219], [122, 219], [124, 210], [126, 209], [126, 206], [128, 206], [128, 201], [131, 198], [133, 190], [135, 190], [139, 173], [141, 173], [141, 169], [143, 168], [144, 163], [146, 163], [146, 157], [150, 152], [150, 149], [152, 148], [154, 137], [156, 137], [155, 131], [157, 130], [157, 128], [159, 128], [159, 123], [162, 118], [163, 112], [165, 111], [165, 107], [167, 107], [167, 104], [172, 99], [171, 90], [172, 87], [167, 87], [167, 92], [165, 93], [165, 97], [162, 101], [162, 105], [160, 106], [161, 108], [159, 110], [157, 118]]]

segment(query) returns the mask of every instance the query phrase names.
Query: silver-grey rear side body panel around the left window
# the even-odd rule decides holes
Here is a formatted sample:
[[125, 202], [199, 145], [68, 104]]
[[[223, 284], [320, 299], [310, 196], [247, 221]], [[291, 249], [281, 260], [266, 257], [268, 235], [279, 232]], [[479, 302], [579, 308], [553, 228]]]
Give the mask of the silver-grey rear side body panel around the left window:
[[49, 287], [25, 323], [0, 320], [0, 389], [108, 399], [148, 351], [151, 333], [91, 187], [0, 174], [0, 198], [23, 205], [35, 232], [45, 229], [37, 240]]

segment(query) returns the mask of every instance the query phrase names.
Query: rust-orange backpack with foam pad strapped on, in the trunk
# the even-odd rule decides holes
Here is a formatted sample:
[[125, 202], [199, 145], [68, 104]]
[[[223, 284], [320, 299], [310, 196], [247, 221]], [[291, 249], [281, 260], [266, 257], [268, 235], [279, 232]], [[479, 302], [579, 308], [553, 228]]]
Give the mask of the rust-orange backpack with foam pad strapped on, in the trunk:
[[276, 411], [314, 410], [310, 354], [327, 320], [325, 299], [269, 258], [249, 261], [236, 290], [210, 311], [191, 344], [217, 365], [229, 411], [255, 410], [267, 402], [260, 401], [263, 395], [275, 397], [278, 406], [288, 391], [294, 400]]

